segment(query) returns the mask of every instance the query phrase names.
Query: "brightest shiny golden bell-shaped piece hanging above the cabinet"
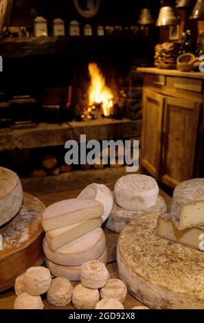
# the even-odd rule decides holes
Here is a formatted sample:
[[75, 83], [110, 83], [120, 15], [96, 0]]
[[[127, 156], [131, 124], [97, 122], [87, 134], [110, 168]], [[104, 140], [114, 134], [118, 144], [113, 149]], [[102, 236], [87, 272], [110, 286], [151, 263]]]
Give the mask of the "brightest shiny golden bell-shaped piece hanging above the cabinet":
[[176, 16], [174, 9], [170, 5], [161, 7], [159, 17], [157, 19], [157, 26], [178, 25], [179, 19]]

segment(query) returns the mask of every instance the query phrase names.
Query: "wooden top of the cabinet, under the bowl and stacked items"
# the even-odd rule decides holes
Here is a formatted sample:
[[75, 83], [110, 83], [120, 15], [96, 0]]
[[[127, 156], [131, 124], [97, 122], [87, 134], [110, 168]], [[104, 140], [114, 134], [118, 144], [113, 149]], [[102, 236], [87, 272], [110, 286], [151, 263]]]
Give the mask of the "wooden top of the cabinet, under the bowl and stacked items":
[[137, 71], [149, 74], [178, 76], [180, 78], [196, 78], [204, 80], [204, 72], [199, 71], [179, 71], [177, 69], [158, 69], [157, 67], [137, 67]]

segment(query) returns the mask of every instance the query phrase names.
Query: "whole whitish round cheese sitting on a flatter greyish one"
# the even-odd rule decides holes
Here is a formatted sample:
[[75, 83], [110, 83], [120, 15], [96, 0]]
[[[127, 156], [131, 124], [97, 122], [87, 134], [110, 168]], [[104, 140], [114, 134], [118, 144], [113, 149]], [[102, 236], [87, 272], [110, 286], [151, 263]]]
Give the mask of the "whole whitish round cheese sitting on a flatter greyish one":
[[140, 211], [157, 204], [159, 187], [146, 175], [126, 175], [115, 183], [115, 202], [126, 210]]

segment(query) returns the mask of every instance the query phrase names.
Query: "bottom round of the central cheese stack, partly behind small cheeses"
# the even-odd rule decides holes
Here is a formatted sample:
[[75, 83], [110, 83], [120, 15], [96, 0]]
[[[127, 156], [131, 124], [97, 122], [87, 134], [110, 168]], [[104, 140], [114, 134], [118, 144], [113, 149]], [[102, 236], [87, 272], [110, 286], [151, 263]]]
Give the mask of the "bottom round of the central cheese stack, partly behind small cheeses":
[[[106, 265], [108, 260], [108, 252], [107, 249], [105, 249], [104, 254], [98, 258], [104, 265]], [[61, 266], [57, 265], [55, 263], [52, 263], [50, 260], [45, 260], [46, 265], [51, 271], [51, 273], [56, 277], [63, 277], [67, 278], [68, 280], [71, 280], [71, 282], [79, 281], [80, 280], [80, 272], [82, 266], [77, 267], [67, 267], [67, 266]]]

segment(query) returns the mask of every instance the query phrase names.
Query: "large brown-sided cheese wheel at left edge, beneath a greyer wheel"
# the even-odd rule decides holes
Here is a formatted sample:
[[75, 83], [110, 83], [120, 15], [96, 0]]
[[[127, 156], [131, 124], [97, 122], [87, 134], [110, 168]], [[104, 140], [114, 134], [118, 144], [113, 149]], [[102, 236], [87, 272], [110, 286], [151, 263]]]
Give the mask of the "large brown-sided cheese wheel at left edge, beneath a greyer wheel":
[[45, 206], [31, 194], [23, 194], [18, 214], [1, 227], [3, 250], [0, 250], [0, 291], [14, 285], [15, 278], [44, 261], [41, 214]]

